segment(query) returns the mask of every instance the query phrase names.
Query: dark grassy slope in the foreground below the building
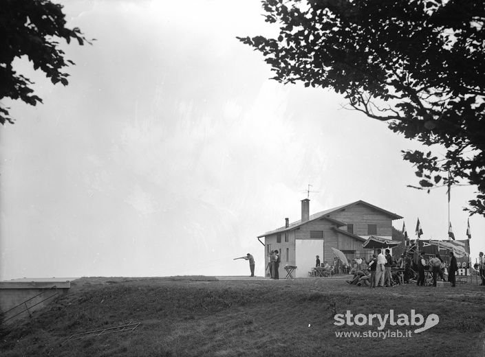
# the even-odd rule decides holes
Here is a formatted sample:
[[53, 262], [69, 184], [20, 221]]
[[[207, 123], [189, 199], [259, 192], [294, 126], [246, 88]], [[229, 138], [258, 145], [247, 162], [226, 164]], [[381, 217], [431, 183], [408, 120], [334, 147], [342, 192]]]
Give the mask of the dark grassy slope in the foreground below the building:
[[[211, 277], [83, 278], [32, 318], [8, 326], [8, 356], [484, 356], [485, 289], [369, 289], [344, 279], [224, 280]], [[437, 314], [420, 334], [334, 325], [335, 314]], [[404, 321], [404, 320], [402, 320]], [[130, 332], [73, 334], [140, 323]], [[422, 327], [422, 326], [421, 326]], [[382, 334], [416, 330], [387, 323]], [[376, 335], [376, 334], [374, 334]]]

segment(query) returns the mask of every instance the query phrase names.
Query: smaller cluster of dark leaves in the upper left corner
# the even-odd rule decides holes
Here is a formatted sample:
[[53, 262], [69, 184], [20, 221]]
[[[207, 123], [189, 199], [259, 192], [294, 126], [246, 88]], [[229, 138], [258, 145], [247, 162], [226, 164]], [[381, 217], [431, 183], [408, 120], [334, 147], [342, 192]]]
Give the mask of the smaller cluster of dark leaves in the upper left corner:
[[[14, 58], [27, 56], [34, 69], [40, 69], [53, 84], [67, 85], [63, 69], [74, 65], [65, 59], [58, 39], [79, 45], [88, 42], [75, 27], [65, 27], [63, 6], [49, 0], [3, 0], [0, 6], [0, 100], [4, 97], [35, 106], [42, 99], [30, 87], [32, 81], [12, 67]], [[6, 106], [0, 104], [0, 123], [14, 123]]]

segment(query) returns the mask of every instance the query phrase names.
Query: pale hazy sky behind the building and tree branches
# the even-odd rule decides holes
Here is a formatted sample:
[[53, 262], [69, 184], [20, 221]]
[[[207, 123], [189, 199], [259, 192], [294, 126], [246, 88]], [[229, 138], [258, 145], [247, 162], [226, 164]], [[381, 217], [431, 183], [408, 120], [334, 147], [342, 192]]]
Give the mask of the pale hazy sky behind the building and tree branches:
[[[420, 148], [325, 89], [283, 85], [236, 36], [275, 33], [259, 1], [66, 1], [93, 45], [63, 49], [69, 85], [25, 58], [43, 104], [3, 100], [0, 280], [21, 277], [248, 275], [257, 236], [365, 200], [414, 237], [457, 239], [475, 187], [429, 194], [401, 150]], [[438, 148], [440, 152], [440, 148]], [[441, 152], [444, 152], [442, 150]], [[485, 218], [469, 218], [472, 261]]]

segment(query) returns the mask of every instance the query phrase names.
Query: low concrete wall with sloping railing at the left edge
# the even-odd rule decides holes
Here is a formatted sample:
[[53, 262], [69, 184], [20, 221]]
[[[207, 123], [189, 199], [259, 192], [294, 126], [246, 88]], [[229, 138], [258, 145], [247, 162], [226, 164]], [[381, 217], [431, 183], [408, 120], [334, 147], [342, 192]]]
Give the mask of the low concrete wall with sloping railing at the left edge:
[[8, 322], [14, 321], [67, 294], [70, 287], [70, 281], [0, 281], [0, 310]]

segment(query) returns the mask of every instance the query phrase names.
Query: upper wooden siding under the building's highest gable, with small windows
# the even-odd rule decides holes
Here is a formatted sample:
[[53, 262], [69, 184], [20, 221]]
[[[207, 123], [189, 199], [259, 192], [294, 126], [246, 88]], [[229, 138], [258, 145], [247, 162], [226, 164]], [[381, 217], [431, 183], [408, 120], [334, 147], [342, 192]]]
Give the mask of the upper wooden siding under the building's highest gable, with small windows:
[[[391, 218], [367, 205], [358, 203], [352, 207], [347, 207], [342, 211], [332, 212], [330, 214], [330, 218], [341, 220], [345, 223], [354, 224], [355, 235], [367, 236], [367, 224], [376, 224], [376, 235], [379, 237], [392, 236]], [[341, 229], [346, 230], [347, 227], [341, 227]]]

